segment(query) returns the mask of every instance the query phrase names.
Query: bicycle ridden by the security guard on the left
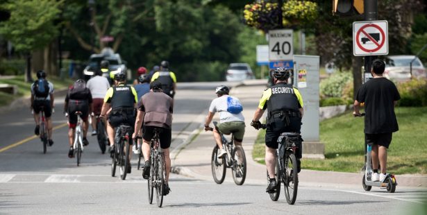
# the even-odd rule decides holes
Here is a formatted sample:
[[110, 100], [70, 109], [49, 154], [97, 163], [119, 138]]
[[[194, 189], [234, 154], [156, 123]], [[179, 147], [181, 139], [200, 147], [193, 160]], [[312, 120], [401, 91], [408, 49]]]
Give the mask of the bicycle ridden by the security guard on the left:
[[126, 179], [128, 169], [131, 168], [131, 161], [129, 160], [129, 152], [132, 145], [131, 134], [133, 127], [126, 124], [121, 124], [116, 129], [115, 148], [112, 149], [113, 156], [111, 162], [111, 176], [115, 177], [117, 164], [119, 165], [120, 178]]

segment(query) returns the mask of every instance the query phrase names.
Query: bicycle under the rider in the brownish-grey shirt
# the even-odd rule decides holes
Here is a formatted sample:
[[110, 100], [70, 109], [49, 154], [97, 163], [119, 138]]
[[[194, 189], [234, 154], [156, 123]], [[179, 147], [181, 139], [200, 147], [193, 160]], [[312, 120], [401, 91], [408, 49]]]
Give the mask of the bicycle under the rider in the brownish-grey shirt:
[[[142, 139], [142, 137], [136, 137]], [[156, 188], [157, 206], [162, 207], [163, 189], [166, 179], [165, 154], [159, 148], [160, 146], [160, 129], [154, 128], [154, 137], [150, 141], [150, 177], [148, 180], [148, 197], [149, 203], [153, 203], [153, 191]], [[142, 147], [140, 147], [142, 148]]]

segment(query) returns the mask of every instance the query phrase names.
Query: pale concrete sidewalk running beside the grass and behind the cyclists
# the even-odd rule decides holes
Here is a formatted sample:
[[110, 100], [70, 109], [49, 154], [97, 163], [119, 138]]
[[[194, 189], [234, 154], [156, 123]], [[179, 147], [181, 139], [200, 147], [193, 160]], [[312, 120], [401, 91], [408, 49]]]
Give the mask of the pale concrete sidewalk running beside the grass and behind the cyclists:
[[[231, 95], [237, 96], [244, 106], [243, 114], [246, 123], [243, 148], [246, 153], [247, 173], [245, 184], [267, 184], [265, 165], [258, 164], [252, 159], [253, 144], [256, 141], [258, 131], [250, 126], [253, 113], [256, 110], [260, 96], [262, 95], [266, 81], [252, 80], [235, 87]], [[213, 98], [212, 98], [213, 99]], [[207, 110], [206, 113], [207, 114]], [[172, 171], [201, 180], [213, 182], [210, 158], [215, 146], [212, 132], [203, 130], [204, 116], [197, 117], [200, 126], [192, 132], [180, 148], [175, 148], [171, 154]], [[215, 117], [218, 114], [215, 114]], [[214, 121], [218, 121], [214, 118]], [[212, 126], [212, 125], [211, 125]], [[229, 137], [228, 137], [229, 138]], [[303, 160], [302, 160], [303, 162]], [[312, 171], [303, 169], [299, 174], [301, 185], [331, 186], [331, 187], [361, 187], [362, 173], [341, 173], [334, 171]], [[396, 175], [399, 186], [402, 187], [427, 187], [427, 175]], [[231, 169], [227, 169], [226, 181], [233, 182]]]

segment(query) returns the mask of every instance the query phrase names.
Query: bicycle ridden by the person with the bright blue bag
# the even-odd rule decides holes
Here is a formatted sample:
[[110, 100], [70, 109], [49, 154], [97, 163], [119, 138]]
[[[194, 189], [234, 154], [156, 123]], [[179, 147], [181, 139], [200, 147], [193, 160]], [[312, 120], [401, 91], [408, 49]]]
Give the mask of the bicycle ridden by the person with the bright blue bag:
[[[217, 127], [218, 122], [213, 122], [214, 126]], [[211, 128], [210, 130], [213, 130]], [[233, 141], [233, 135], [231, 140], [228, 141], [224, 134], [219, 132], [221, 135], [222, 148], [226, 150], [226, 155], [218, 159], [219, 147], [215, 144], [212, 150], [212, 176], [217, 184], [222, 184], [226, 178], [226, 169], [231, 168], [233, 180], [235, 184], [242, 185], [246, 179], [246, 155], [242, 146], [235, 146]]]

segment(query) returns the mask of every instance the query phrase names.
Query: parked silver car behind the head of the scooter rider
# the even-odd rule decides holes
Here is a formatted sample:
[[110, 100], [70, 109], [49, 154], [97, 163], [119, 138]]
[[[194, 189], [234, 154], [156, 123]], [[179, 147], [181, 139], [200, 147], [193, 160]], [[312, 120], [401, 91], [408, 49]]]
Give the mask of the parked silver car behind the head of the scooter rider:
[[[385, 58], [384, 76], [397, 81], [410, 80], [410, 62], [415, 55], [390, 55]], [[416, 58], [412, 62], [412, 76], [414, 78], [426, 78], [426, 69], [421, 60]]]

